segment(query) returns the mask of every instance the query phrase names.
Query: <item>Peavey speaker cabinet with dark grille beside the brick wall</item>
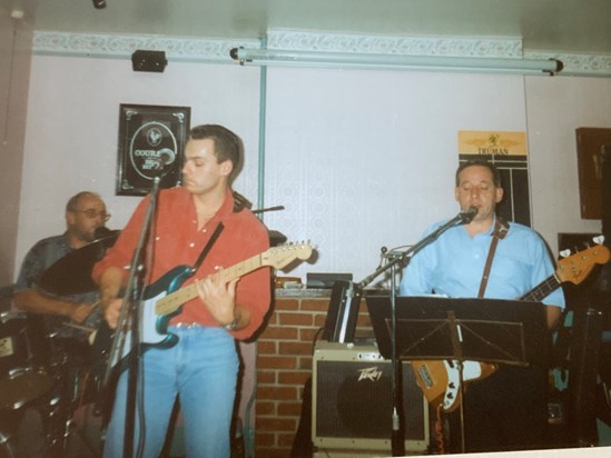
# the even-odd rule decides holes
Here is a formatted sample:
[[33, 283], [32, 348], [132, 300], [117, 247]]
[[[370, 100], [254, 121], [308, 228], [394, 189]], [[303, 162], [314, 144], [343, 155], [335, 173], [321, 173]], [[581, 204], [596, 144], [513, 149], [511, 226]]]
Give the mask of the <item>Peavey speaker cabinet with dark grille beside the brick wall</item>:
[[[405, 452], [430, 445], [428, 405], [410, 362], [402, 362]], [[392, 451], [391, 361], [374, 346], [319, 341], [314, 351], [312, 439], [315, 449]]]

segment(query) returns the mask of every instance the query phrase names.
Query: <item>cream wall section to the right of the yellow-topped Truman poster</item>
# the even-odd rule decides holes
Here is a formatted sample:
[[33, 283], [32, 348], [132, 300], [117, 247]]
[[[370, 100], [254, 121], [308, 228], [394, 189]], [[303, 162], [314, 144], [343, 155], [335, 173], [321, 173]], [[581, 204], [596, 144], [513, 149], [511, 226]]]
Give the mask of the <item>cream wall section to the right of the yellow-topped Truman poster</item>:
[[526, 101], [535, 228], [554, 245], [558, 232], [600, 232], [581, 219], [575, 129], [611, 128], [611, 79], [528, 78]]

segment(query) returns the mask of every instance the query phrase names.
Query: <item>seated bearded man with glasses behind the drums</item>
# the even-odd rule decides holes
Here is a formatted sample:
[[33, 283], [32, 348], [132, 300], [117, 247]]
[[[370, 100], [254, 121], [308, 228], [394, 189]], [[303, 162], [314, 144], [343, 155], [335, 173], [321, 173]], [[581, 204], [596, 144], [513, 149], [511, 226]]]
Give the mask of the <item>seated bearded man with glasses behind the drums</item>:
[[[36, 406], [27, 407], [16, 426], [16, 446], [19, 456], [48, 457], [60, 452], [50, 450], [50, 439], [58, 441], [55, 448], [62, 447], [62, 438], [51, 436], [63, 434], [62, 421], [68, 420], [71, 415], [71, 404], [76, 404], [72, 397], [79, 396], [79, 401], [82, 400], [81, 392], [71, 390], [77, 390], [79, 377], [82, 378], [81, 375], [91, 362], [88, 338], [90, 330], [97, 329], [101, 319], [99, 307], [96, 306], [97, 290], [69, 296], [57, 295], [40, 285], [41, 276], [56, 261], [95, 241], [98, 238], [96, 230], [102, 228], [109, 219], [110, 213], [106, 211], [106, 203], [99, 195], [90, 191], [75, 195], [66, 205], [66, 232], [35, 243], [21, 263], [12, 303], [20, 311], [28, 312], [28, 322], [31, 323], [28, 326], [36, 326], [35, 323], [40, 326], [39, 318], [42, 318], [42, 327], [47, 338], [50, 337], [51, 344], [50, 348], [45, 350], [48, 354], [45, 356], [50, 359], [51, 355], [55, 355], [66, 359], [61, 360], [62, 382], [56, 380], [58, 385], [56, 389], [61, 392], [60, 415], [55, 418], [38, 411]], [[40, 344], [46, 344], [47, 338]], [[38, 348], [36, 350], [42, 351]], [[51, 364], [51, 361], [47, 362]], [[78, 389], [81, 390], [83, 387], [79, 385]], [[60, 428], [58, 432], [53, 432], [56, 428]]]

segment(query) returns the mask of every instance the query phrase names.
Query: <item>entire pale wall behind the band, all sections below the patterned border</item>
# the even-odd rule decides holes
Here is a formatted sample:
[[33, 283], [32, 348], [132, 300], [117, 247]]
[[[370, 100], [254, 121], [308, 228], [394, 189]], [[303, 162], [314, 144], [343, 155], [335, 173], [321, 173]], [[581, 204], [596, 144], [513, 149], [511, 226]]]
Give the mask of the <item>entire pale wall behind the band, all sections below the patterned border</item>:
[[[267, 81], [264, 206], [286, 210], [265, 222], [319, 255], [289, 275], [361, 280], [381, 247], [454, 216], [459, 130], [529, 131], [534, 227], [552, 248], [558, 232], [600, 230], [579, 216], [573, 132], [611, 126], [607, 80], [270, 68]], [[63, 230], [81, 189], [105, 196], [110, 228], [126, 222], [138, 199], [115, 196], [120, 103], [190, 106], [191, 126], [234, 129], [247, 151], [236, 189], [256, 202], [258, 94], [256, 68], [137, 73], [128, 60], [35, 56], [16, 271], [36, 240]]]

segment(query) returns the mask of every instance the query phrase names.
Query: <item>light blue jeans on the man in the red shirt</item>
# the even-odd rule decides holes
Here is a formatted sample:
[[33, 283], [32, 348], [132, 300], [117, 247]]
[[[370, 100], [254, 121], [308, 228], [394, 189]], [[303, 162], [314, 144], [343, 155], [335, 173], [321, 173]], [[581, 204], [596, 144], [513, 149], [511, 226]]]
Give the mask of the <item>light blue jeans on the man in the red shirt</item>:
[[[150, 348], [145, 351], [144, 365], [140, 365], [144, 380], [139, 379], [138, 387], [144, 382], [144, 399], [137, 396], [134, 456], [159, 456], [178, 395], [187, 457], [229, 457], [229, 428], [238, 374], [234, 338], [220, 328], [170, 327], [169, 331], [178, 336], [178, 344], [173, 348]], [[124, 456], [127, 375], [120, 376], [117, 386], [105, 458]], [[142, 419], [145, 434], [140, 452]]]

